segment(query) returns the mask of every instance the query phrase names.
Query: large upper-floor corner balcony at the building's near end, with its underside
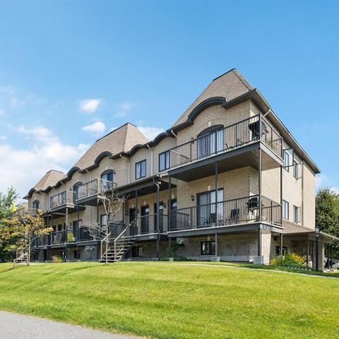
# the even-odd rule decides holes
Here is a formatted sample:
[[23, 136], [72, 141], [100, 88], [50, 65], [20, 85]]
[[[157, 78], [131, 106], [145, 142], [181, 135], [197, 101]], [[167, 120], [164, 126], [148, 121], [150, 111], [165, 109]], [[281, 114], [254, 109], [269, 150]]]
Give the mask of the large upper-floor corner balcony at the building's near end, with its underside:
[[[266, 168], [282, 164], [283, 138], [262, 114], [229, 126], [213, 127], [213, 131], [169, 149], [169, 171], [173, 177], [189, 181], [201, 177], [202, 171], [206, 177], [213, 174], [211, 162], [214, 161], [220, 163], [220, 172], [245, 165], [257, 167], [258, 148], [266, 150]], [[200, 174], [191, 171], [195, 164], [204, 166]]]

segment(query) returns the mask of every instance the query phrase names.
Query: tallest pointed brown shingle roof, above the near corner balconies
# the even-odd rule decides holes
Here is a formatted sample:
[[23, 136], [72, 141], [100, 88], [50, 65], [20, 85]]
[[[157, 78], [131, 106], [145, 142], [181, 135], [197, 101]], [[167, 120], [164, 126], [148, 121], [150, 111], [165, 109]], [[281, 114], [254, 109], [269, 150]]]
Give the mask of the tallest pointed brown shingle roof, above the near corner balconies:
[[242, 77], [237, 69], [231, 69], [221, 76], [218, 76], [218, 78], [215, 78], [208, 87], [203, 90], [203, 93], [196, 98], [191, 106], [186, 109], [184, 114], [175, 121], [172, 128], [187, 121], [189, 119], [189, 114], [194, 110], [194, 108], [205, 100], [212, 97], [223, 97], [226, 101], [230, 101], [253, 89], [254, 88], [246, 81], [245, 78]]

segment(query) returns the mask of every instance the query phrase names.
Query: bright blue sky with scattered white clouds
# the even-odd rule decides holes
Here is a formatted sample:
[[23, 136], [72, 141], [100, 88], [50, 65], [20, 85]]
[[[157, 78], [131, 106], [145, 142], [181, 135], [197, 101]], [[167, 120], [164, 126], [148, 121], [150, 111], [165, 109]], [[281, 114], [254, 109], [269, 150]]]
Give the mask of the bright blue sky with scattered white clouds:
[[339, 3], [2, 1], [0, 191], [131, 121], [152, 137], [237, 68], [339, 187]]

